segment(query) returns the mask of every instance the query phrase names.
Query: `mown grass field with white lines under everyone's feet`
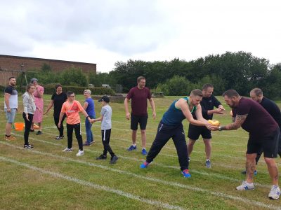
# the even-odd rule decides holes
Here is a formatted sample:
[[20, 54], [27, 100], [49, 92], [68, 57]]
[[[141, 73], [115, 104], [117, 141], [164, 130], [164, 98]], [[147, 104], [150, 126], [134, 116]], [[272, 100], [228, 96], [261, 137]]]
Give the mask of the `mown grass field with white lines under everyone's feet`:
[[[147, 149], [155, 138], [162, 114], [176, 98], [155, 99], [156, 120], [152, 120], [151, 109], [148, 108]], [[45, 95], [44, 99], [46, 107], [51, 96]], [[77, 99], [84, 102], [81, 95]], [[4, 98], [1, 97], [0, 101], [3, 104]], [[99, 116], [100, 103], [95, 101], [95, 104]], [[113, 111], [110, 145], [119, 157], [115, 165], [109, 164], [109, 158], [106, 161], [95, 160], [103, 151], [100, 123], [92, 127], [96, 143], [84, 147], [85, 154], [76, 157], [76, 139], [73, 141], [73, 153], [62, 152], [67, 146], [66, 138], [60, 141], [53, 139], [58, 131], [50, 111], [48, 116], [44, 116], [43, 134], [30, 134], [34, 149], [25, 150], [23, 132], [13, 131], [17, 140], [4, 141], [6, 118], [1, 106], [0, 209], [281, 209], [280, 200], [268, 199], [271, 184], [263, 160], [257, 167], [256, 189], [247, 192], [235, 190], [244, 180], [240, 172], [244, 169], [247, 132], [242, 129], [213, 132], [211, 169], [204, 165], [202, 139], [197, 141], [190, 161], [192, 177], [184, 179], [171, 140], [148, 169], [140, 169], [145, 159], [141, 155], [140, 133], [138, 150], [126, 151], [131, 145], [131, 130], [125, 118], [124, 105], [110, 105]], [[230, 109], [223, 105], [227, 109], [226, 114], [214, 118], [226, 125], [231, 120]], [[15, 122], [23, 122], [21, 113], [22, 99], [19, 97], [19, 113]], [[84, 116], [81, 118], [84, 122]], [[84, 123], [81, 125], [85, 139]], [[188, 123], [184, 122], [184, 127], [187, 135]], [[276, 161], [280, 167], [280, 158]]]

